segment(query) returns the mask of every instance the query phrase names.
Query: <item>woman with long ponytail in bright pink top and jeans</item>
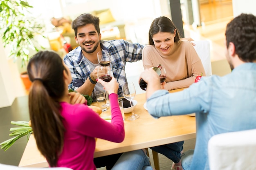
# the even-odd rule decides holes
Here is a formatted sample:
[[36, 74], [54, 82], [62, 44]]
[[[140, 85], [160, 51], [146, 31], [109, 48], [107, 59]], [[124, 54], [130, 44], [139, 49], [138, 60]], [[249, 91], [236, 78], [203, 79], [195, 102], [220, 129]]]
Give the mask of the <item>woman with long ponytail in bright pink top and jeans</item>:
[[[31, 124], [38, 149], [49, 166], [96, 170], [93, 163], [95, 137], [122, 142], [125, 136], [124, 121], [117, 101], [119, 84], [116, 79], [113, 77], [108, 83], [98, 80], [109, 94], [112, 113], [109, 123], [86, 105], [87, 101], [82, 95], [67, 91], [72, 77], [57, 53], [38, 52], [29, 61], [27, 71], [33, 82], [29, 91]], [[126, 154], [126, 158], [127, 155], [133, 157], [134, 152], [140, 155], [136, 157], [140, 160], [136, 164], [140, 169], [151, 168], [142, 150], [123, 155]], [[121, 157], [119, 159], [123, 160]]]

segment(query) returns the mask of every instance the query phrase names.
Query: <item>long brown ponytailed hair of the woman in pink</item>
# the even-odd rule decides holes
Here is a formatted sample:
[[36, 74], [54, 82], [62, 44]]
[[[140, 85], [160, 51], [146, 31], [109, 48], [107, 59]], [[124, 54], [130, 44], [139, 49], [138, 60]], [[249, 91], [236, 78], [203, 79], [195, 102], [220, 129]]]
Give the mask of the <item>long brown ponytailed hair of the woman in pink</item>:
[[51, 167], [56, 167], [62, 152], [64, 131], [58, 99], [67, 90], [63, 79], [63, 62], [52, 51], [36, 53], [27, 66], [33, 82], [29, 91], [29, 115], [38, 150]]

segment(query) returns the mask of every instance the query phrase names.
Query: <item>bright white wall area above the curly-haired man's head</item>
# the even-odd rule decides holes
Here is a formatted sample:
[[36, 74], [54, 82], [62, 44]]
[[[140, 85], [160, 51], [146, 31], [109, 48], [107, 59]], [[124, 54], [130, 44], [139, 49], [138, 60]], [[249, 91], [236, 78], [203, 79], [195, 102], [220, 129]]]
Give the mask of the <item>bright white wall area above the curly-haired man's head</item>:
[[232, 0], [234, 17], [241, 13], [252, 13], [256, 15], [255, 0]]

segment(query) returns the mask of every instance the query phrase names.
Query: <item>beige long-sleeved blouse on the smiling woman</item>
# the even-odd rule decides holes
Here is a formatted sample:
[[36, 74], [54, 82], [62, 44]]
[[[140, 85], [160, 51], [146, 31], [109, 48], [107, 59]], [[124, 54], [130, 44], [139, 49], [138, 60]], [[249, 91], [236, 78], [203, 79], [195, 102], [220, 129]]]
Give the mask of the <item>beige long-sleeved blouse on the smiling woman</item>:
[[195, 77], [203, 74], [204, 67], [193, 45], [187, 40], [174, 43], [171, 55], [162, 56], [155, 46], [147, 45], [142, 51], [144, 69], [162, 66], [166, 69], [166, 90], [186, 88], [195, 82]]

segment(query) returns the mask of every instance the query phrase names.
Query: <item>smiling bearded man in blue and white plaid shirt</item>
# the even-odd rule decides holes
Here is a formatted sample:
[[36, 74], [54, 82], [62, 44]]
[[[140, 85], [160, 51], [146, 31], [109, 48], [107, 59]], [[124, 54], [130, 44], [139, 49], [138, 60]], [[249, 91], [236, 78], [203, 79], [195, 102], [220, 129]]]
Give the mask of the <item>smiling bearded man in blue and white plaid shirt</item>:
[[122, 96], [122, 85], [127, 82], [125, 74], [126, 62], [141, 60], [143, 46], [139, 43], [130, 43], [125, 40], [101, 40], [99, 18], [89, 13], [79, 15], [72, 22], [76, 43], [79, 47], [64, 57], [64, 62], [70, 68], [72, 88], [82, 94], [92, 94], [94, 102], [95, 91], [103, 90], [103, 86], [96, 82], [99, 62], [97, 53], [108, 51], [111, 57], [110, 67], [119, 83], [118, 95]]

